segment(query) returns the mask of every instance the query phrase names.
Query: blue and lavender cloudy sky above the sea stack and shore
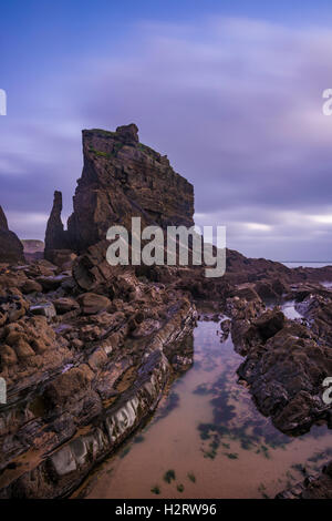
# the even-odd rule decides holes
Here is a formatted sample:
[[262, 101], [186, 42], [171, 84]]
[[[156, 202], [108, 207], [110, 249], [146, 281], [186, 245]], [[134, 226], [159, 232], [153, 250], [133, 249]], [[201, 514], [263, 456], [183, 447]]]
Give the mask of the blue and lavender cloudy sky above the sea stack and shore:
[[228, 247], [332, 260], [331, 22], [320, 0], [2, 2], [10, 228], [43, 239], [54, 190], [64, 221], [72, 212], [81, 130], [135, 122], [194, 184], [196, 223], [227, 226]]

